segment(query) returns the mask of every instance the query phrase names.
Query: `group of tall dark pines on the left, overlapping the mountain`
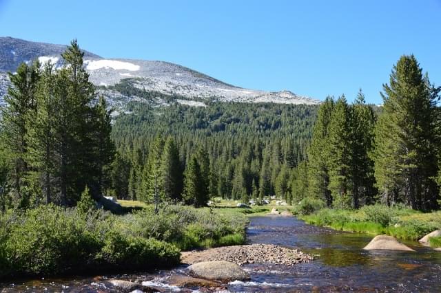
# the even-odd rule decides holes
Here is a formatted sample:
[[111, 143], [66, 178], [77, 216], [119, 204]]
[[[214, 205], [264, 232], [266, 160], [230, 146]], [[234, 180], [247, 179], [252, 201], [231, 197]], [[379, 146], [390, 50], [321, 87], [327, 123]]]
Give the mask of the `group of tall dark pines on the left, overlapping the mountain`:
[[0, 122], [0, 206], [74, 206], [90, 188], [101, 195], [114, 143], [110, 111], [83, 68], [76, 41], [64, 66], [22, 63], [10, 74]]

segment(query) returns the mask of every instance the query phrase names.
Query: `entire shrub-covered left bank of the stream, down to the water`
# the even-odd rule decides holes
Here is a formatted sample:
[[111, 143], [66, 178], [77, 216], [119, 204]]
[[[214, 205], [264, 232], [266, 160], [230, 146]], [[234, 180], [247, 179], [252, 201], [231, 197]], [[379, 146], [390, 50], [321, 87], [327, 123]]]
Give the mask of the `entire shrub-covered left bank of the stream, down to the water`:
[[243, 213], [151, 206], [127, 215], [40, 206], [0, 217], [0, 278], [133, 272], [178, 265], [181, 250], [245, 242]]

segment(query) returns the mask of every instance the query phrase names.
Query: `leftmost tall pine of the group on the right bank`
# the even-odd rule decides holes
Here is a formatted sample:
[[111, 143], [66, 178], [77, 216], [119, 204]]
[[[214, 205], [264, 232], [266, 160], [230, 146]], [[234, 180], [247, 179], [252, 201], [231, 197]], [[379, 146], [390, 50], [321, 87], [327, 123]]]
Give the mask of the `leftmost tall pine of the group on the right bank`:
[[308, 151], [309, 195], [325, 199], [327, 206], [332, 204], [329, 191], [329, 123], [334, 111], [334, 99], [327, 97], [318, 109], [318, 117], [314, 124], [311, 146]]

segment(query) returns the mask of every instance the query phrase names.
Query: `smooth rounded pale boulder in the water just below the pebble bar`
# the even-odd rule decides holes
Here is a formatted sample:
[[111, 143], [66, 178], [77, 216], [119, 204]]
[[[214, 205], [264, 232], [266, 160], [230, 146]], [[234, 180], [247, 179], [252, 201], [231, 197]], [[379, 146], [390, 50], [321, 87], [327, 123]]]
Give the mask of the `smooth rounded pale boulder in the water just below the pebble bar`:
[[203, 261], [190, 265], [188, 270], [196, 278], [211, 281], [229, 282], [235, 280], [248, 281], [251, 279], [243, 268], [229, 261]]

